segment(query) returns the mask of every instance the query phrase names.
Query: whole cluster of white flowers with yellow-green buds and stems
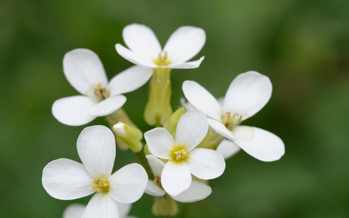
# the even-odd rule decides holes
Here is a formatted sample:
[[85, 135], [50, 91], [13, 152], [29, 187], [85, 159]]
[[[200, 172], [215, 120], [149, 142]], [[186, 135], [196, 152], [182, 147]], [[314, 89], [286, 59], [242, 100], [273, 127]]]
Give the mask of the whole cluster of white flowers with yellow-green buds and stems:
[[[126, 26], [122, 37], [128, 48], [116, 44], [116, 51], [135, 66], [109, 82], [94, 52], [75, 49], [63, 59], [64, 74], [81, 95], [56, 100], [53, 116], [70, 126], [105, 116], [110, 125], [81, 131], [76, 147], [82, 164], [61, 158], [43, 170], [43, 187], [54, 198], [73, 200], [94, 194], [87, 205], [68, 206], [64, 218], [130, 217], [131, 204], [143, 193], [154, 196], [154, 215], [174, 216], [176, 202], [200, 201], [211, 194], [208, 180], [222, 175], [225, 159], [240, 149], [262, 161], [284, 155], [279, 137], [240, 125], [261, 110], [272, 94], [269, 78], [257, 72], [238, 75], [219, 99], [197, 82], [185, 81], [182, 89], [188, 102], [181, 99], [183, 107], [172, 111], [171, 69], [200, 66], [203, 56], [189, 60], [206, 42], [203, 29], [180, 27], [163, 48], [145, 25]], [[143, 115], [156, 128], [143, 134], [122, 109], [126, 102], [122, 94], [148, 80], [149, 98]], [[116, 142], [120, 150], [132, 150], [142, 165], [128, 164], [112, 173]]]

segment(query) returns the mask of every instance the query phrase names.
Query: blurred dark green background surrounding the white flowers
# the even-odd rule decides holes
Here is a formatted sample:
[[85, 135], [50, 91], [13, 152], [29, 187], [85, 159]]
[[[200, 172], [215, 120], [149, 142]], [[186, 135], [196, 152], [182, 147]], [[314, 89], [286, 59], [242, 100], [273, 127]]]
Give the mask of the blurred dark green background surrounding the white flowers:
[[[84, 128], [59, 123], [54, 100], [76, 95], [62, 71], [64, 54], [89, 48], [108, 78], [132, 66], [115, 51], [130, 23], [154, 30], [162, 45], [181, 25], [205, 29], [198, 69], [172, 70], [172, 106], [181, 84], [195, 80], [216, 97], [239, 73], [270, 77], [273, 95], [244, 124], [280, 136], [279, 161], [264, 163], [241, 151], [210, 182], [203, 201], [180, 204], [178, 217], [349, 217], [349, 2], [342, 0], [43, 1], [0, 2], [0, 217], [61, 217], [67, 205], [41, 184], [50, 161], [80, 161], [76, 140]], [[195, 59], [194, 59], [195, 60]], [[142, 129], [148, 84], [126, 94], [124, 106]], [[98, 118], [86, 126], [107, 125]], [[114, 166], [138, 160], [117, 151]], [[131, 215], [153, 217], [144, 194]]]

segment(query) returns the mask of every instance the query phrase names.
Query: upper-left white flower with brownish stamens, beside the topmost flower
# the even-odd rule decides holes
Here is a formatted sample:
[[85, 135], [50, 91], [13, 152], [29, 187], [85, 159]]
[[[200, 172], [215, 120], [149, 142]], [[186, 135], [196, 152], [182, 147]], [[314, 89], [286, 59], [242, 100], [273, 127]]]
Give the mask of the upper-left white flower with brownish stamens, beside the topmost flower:
[[149, 68], [133, 66], [108, 83], [97, 54], [84, 48], [65, 54], [63, 70], [68, 82], [82, 94], [58, 99], [52, 105], [53, 116], [69, 126], [84, 125], [118, 110], [126, 102], [121, 94], [138, 89], [152, 75]]

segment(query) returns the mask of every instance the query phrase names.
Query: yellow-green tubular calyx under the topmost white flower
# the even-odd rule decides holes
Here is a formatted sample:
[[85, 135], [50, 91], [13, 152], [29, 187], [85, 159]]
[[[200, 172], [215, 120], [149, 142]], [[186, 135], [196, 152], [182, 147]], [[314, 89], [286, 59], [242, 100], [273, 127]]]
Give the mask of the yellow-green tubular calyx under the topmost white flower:
[[150, 126], [163, 125], [172, 113], [171, 69], [154, 68], [149, 82], [149, 98], [144, 109], [144, 120]]

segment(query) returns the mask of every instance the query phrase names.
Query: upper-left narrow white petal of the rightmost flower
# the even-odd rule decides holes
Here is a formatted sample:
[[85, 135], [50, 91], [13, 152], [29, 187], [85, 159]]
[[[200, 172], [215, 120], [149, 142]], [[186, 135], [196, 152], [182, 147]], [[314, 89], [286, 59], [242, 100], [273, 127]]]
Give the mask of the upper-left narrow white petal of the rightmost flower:
[[213, 119], [222, 119], [222, 109], [215, 97], [195, 81], [184, 81], [182, 86], [187, 100], [199, 111]]

